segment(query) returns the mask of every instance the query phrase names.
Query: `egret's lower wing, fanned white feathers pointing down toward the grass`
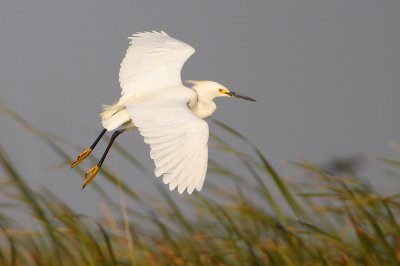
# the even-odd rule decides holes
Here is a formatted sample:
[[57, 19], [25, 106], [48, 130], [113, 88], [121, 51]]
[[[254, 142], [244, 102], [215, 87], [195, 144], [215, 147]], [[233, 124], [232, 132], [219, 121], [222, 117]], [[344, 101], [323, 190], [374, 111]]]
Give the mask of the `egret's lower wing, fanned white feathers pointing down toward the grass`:
[[[184, 91], [189, 90], [179, 93]], [[200, 191], [204, 183], [209, 130], [208, 124], [189, 110], [187, 102], [185, 96], [161, 94], [128, 104], [126, 110], [150, 145], [156, 176], [162, 175], [170, 190], [178, 187], [179, 193], [187, 190], [191, 194], [194, 189]]]

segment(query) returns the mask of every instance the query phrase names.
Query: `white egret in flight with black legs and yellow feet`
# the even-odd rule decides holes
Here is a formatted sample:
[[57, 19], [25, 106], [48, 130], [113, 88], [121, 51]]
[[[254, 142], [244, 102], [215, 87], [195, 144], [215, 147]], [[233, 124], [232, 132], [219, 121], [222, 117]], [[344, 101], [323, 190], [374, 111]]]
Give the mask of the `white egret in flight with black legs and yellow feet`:
[[162, 176], [171, 191], [200, 191], [208, 161], [209, 130], [203, 119], [214, 113], [214, 98], [255, 100], [213, 81], [188, 81], [193, 86], [185, 87], [181, 70], [195, 50], [163, 31], [136, 33], [130, 40], [119, 72], [121, 98], [103, 107], [103, 131], [71, 167], [88, 157], [107, 131], [115, 130], [98, 164], [86, 173], [83, 189], [99, 172], [115, 138], [137, 128], [150, 145], [155, 175]]

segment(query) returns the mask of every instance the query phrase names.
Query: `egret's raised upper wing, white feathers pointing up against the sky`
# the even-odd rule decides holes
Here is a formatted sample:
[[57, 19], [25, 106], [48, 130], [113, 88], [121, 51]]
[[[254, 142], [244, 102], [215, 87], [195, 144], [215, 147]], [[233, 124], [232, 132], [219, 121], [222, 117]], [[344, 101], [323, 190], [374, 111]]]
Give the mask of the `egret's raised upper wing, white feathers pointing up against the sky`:
[[129, 39], [130, 46], [119, 71], [123, 98], [182, 85], [181, 70], [195, 52], [193, 47], [163, 31], [139, 32]]

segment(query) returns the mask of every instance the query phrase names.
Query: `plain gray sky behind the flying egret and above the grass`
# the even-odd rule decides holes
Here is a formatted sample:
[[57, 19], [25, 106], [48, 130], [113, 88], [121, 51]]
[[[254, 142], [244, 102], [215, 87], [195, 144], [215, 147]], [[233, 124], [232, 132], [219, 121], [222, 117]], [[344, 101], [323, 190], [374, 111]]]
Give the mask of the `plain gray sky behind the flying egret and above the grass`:
[[[281, 160], [332, 155], [398, 158], [389, 141], [400, 136], [399, 11], [398, 0], [2, 0], [0, 99], [37, 127], [88, 146], [100, 131], [101, 104], [119, 97], [127, 37], [164, 30], [196, 49], [183, 79], [215, 80], [258, 100], [217, 100], [214, 117], [280, 169]], [[94, 193], [80, 191], [75, 171], [49, 171], [60, 159], [42, 142], [4, 116], [0, 125], [1, 145], [32, 184], [46, 184], [78, 210], [93, 207]], [[139, 134], [118, 141], [151, 169]], [[115, 153], [106, 163], [135, 188], [157, 193], [152, 174]], [[398, 182], [381, 180], [374, 182], [383, 191], [398, 191]], [[105, 184], [101, 176], [95, 182]]]

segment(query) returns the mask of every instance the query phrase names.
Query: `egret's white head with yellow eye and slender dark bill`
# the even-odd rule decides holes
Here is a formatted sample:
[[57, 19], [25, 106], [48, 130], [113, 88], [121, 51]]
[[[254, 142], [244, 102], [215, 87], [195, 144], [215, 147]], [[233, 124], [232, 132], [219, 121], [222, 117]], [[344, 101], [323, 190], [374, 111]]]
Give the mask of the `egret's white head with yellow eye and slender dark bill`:
[[225, 86], [215, 81], [187, 80], [186, 82], [192, 84], [192, 89], [195, 90], [198, 94], [208, 96], [211, 99], [214, 99], [215, 97], [235, 97], [253, 102], [256, 101], [255, 99], [250, 98], [248, 96], [230, 91]]

